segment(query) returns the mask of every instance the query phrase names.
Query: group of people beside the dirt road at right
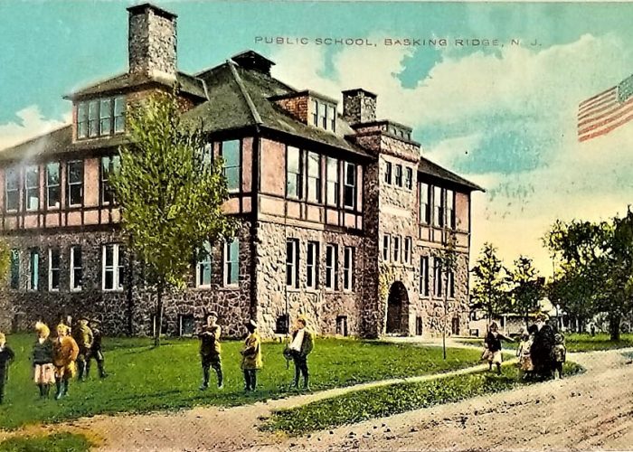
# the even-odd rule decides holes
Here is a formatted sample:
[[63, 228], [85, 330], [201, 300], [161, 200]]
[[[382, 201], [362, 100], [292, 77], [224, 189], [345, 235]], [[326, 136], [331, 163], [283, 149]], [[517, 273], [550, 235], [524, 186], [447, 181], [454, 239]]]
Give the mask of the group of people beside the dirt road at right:
[[[562, 378], [562, 365], [565, 363], [567, 354], [565, 340], [562, 334], [553, 334], [553, 344], [550, 350], [545, 351], [547, 354], [545, 360], [540, 359], [538, 365], [535, 364], [536, 359], [534, 358], [536, 358], [536, 356], [534, 356], [534, 342], [539, 342], [539, 347], [537, 347], [538, 350], [543, 348], [543, 342], [547, 343], [546, 340], [543, 341], [543, 338], [537, 338], [537, 334], [542, 332], [541, 334], [545, 335], [547, 332], [552, 331], [549, 325], [546, 325], [544, 329], [543, 325], [545, 325], [545, 318], [543, 315], [539, 315], [537, 317], [536, 324], [531, 325], [528, 328], [527, 333], [521, 334], [520, 343], [516, 349], [516, 356], [519, 358], [519, 363], [517, 364], [519, 368], [519, 379], [521, 380], [531, 378], [535, 373], [545, 373], [545, 377], [551, 377], [551, 372], [553, 372], [554, 378], [556, 377], [556, 374], [558, 374], [558, 378]], [[484, 340], [484, 353], [481, 358], [482, 360], [488, 362], [490, 370], [492, 370], [492, 366], [495, 364], [497, 373], [501, 373], [502, 340], [514, 342], [514, 339], [499, 333], [498, 326], [495, 322], [493, 322], [490, 325], [486, 339]], [[545, 347], [549, 348], [547, 345], [545, 345]], [[542, 363], [543, 361], [545, 361], [545, 363]], [[548, 364], [551, 364], [551, 366]]]

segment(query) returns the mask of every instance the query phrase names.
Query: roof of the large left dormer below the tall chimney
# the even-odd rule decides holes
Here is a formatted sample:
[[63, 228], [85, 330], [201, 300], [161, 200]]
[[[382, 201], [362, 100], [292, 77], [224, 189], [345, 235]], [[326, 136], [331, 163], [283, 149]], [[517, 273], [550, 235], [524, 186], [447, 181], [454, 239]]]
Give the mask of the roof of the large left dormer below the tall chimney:
[[[206, 99], [202, 80], [196, 79], [194, 76], [185, 74], [184, 72], [177, 72], [176, 82], [181, 91], [200, 99]], [[90, 97], [95, 94], [122, 93], [152, 83], [171, 86], [171, 82], [167, 80], [147, 79], [146, 77], [140, 78], [125, 72], [110, 79], [99, 81], [89, 87], [74, 91], [64, 96], [64, 99], [72, 100]]]

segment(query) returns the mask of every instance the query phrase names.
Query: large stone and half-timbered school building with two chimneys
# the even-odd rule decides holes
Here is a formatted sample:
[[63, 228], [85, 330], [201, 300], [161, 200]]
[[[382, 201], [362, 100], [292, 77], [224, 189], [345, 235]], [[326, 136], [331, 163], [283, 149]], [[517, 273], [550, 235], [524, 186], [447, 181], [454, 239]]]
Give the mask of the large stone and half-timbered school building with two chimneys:
[[[127, 72], [64, 96], [70, 125], [0, 152], [0, 233], [11, 248], [0, 330], [87, 314], [105, 334], [153, 334], [155, 299], [126, 248], [109, 174], [128, 107], [176, 86], [184, 120], [202, 124], [209, 152], [222, 155], [225, 211], [241, 229], [201, 244], [210, 257], [193, 259], [186, 290], [165, 300], [165, 334], [193, 334], [216, 311], [231, 336], [249, 318], [264, 336], [283, 334], [299, 314], [318, 334], [438, 335], [445, 295], [449, 333], [467, 332], [476, 184], [425, 158], [411, 127], [376, 118], [368, 90], [332, 99], [291, 88], [252, 51], [187, 74], [175, 14], [132, 6], [128, 27]], [[439, 260], [449, 233], [450, 273]]]

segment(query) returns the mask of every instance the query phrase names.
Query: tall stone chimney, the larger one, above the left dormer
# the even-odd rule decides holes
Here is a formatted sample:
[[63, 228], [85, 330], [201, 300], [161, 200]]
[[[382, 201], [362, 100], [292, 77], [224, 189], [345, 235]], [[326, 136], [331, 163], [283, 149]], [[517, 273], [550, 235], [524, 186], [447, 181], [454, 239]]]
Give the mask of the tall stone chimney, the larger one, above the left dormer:
[[177, 16], [148, 3], [130, 6], [128, 12], [129, 74], [175, 80]]

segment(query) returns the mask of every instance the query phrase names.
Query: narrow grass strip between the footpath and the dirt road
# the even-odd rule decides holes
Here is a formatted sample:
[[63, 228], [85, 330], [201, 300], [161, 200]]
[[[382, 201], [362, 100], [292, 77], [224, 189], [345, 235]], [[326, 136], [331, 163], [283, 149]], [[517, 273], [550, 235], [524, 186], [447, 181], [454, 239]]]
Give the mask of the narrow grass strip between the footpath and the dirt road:
[[[517, 380], [515, 366], [504, 366], [502, 369], [501, 375], [476, 372], [349, 392], [301, 407], [275, 411], [262, 429], [281, 430], [298, 436], [530, 384]], [[566, 375], [581, 371], [581, 366], [576, 363], [565, 364]]]

